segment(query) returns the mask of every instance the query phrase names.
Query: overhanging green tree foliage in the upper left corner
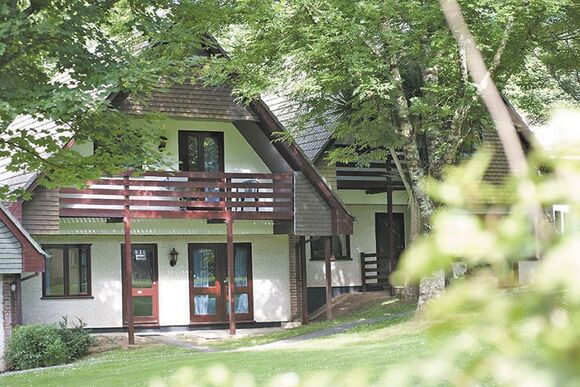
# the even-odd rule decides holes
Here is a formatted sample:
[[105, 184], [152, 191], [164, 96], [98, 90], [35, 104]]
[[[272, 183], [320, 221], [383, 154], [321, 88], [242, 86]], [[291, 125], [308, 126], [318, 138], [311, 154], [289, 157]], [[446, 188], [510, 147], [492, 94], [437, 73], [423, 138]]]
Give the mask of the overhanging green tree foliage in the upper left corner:
[[[41, 184], [82, 184], [158, 162], [158, 127], [135, 124], [108, 96], [146, 97], [160, 78], [195, 64], [213, 13], [171, 0], [22, 0], [0, 4], [0, 157], [9, 171], [42, 171]], [[187, 14], [187, 17], [184, 17]], [[175, 19], [179, 18], [177, 25]], [[30, 125], [11, 125], [27, 117]], [[155, 116], [144, 118], [158, 118]], [[37, 124], [34, 124], [35, 120]], [[64, 147], [100, 143], [94, 156]], [[2, 187], [6, 195], [10, 187]], [[13, 192], [19, 195], [22, 192]]]

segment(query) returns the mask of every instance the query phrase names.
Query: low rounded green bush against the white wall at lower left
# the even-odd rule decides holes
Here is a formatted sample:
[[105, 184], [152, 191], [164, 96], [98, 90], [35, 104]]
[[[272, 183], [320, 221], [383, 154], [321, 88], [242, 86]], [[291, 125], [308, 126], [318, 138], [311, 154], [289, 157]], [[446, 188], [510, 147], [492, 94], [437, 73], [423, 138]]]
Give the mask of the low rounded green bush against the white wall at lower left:
[[94, 339], [90, 336], [85, 324], [68, 326], [63, 317], [58, 326], [25, 325], [14, 328], [6, 361], [15, 369], [49, 367], [76, 360], [89, 351]]

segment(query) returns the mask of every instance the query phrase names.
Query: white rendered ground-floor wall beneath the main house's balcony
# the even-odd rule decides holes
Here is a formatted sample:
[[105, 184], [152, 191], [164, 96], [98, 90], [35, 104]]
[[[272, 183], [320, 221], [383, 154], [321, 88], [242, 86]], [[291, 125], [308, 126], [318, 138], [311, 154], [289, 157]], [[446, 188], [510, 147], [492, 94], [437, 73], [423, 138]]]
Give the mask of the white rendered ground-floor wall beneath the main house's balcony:
[[[235, 227], [235, 226], [234, 226]], [[22, 283], [23, 322], [56, 323], [62, 316], [76, 317], [89, 327], [122, 325], [120, 236], [57, 236], [39, 238], [40, 243], [91, 243], [93, 299], [42, 300], [41, 277]], [[287, 235], [243, 235], [235, 242], [252, 244], [254, 319], [257, 322], [290, 318], [290, 283]], [[225, 243], [224, 236], [135, 236], [133, 243], [157, 243], [159, 256], [159, 323], [188, 325], [188, 243]], [[169, 251], [180, 253], [176, 266], [169, 265]]]

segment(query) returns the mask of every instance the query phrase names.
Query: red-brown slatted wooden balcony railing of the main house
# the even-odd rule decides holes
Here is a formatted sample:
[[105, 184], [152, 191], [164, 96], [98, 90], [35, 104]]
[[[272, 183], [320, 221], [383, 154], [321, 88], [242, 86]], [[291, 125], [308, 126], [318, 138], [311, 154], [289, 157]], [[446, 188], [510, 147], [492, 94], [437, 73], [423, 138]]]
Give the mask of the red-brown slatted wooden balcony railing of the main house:
[[147, 172], [61, 188], [61, 217], [263, 219], [294, 216], [292, 173]]

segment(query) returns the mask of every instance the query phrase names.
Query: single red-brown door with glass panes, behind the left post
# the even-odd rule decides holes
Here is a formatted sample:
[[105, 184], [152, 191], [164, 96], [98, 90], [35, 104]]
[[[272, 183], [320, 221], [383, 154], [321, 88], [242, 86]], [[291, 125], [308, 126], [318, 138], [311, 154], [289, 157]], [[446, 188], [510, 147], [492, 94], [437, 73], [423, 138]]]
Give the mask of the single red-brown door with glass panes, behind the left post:
[[[157, 245], [156, 244], [132, 244], [132, 269], [133, 269], [133, 322], [135, 324], [158, 324], [159, 323], [159, 292], [158, 292], [158, 268], [157, 268]], [[123, 246], [121, 257], [124, 267]], [[123, 290], [123, 294], [125, 291]], [[124, 302], [123, 298], [123, 302]], [[126, 310], [123, 308], [123, 310]]]

